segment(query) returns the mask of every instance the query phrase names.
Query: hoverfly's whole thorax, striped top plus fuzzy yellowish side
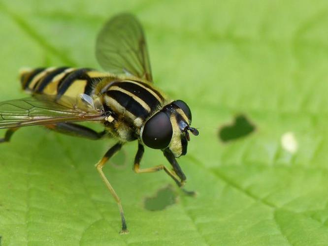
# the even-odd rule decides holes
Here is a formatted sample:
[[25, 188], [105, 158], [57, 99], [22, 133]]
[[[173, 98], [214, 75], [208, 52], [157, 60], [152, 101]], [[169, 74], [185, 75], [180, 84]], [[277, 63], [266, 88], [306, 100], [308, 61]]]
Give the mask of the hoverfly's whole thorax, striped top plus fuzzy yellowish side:
[[111, 133], [117, 133], [122, 141], [138, 137], [145, 121], [161, 109], [166, 99], [151, 84], [127, 78], [108, 77], [95, 90], [101, 96], [103, 107], [112, 111]]

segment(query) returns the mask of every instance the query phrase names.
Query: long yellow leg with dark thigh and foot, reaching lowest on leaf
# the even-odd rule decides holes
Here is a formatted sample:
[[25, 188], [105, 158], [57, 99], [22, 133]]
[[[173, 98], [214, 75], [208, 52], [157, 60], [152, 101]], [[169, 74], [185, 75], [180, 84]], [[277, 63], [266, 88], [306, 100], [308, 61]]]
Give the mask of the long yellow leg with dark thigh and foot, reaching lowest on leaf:
[[116, 194], [115, 190], [113, 189], [112, 185], [109, 183], [109, 181], [107, 180], [106, 176], [104, 175], [104, 173], [102, 172], [102, 167], [106, 164], [107, 160], [110, 159], [110, 157], [113, 156], [113, 154], [115, 154], [116, 152], [118, 152], [122, 147], [121, 143], [117, 143], [115, 144], [112, 148], [110, 148], [106, 154], [102, 157], [102, 159], [96, 164], [97, 170], [100, 174], [101, 179], [103, 180], [103, 182], [106, 184], [107, 188], [109, 189], [110, 193], [112, 194], [112, 196], [114, 197], [119, 210], [120, 210], [120, 214], [121, 214], [121, 219], [122, 219], [122, 230], [121, 230], [121, 234], [126, 234], [129, 233], [128, 228], [127, 228], [127, 223], [125, 221], [125, 217], [124, 217], [124, 212], [123, 212], [123, 208], [122, 208], [122, 204], [121, 204], [121, 199], [118, 197], [118, 195]]

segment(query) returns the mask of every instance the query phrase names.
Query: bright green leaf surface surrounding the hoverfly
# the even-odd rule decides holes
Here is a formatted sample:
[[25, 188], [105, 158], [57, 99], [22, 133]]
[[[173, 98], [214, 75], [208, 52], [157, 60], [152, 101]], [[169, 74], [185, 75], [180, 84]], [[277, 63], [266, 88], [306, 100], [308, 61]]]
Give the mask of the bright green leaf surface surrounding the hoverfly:
[[[121, 236], [94, 168], [114, 141], [26, 127], [0, 145], [1, 246], [328, 245], [328, 2], [2, 0], [1, 101], [25, 96], [21, 67], [99, 68], [95, 37], [119, 12], [144, 26], [156, 85], [192, 109], [200, 134], [179, 163], [198, 196], [164, 173], [134, 174], [128, 144], [104, 169]], [[256, 130], [223, 143], [238, 114]], [[141, 165], [157, 164], [146, 149]]]

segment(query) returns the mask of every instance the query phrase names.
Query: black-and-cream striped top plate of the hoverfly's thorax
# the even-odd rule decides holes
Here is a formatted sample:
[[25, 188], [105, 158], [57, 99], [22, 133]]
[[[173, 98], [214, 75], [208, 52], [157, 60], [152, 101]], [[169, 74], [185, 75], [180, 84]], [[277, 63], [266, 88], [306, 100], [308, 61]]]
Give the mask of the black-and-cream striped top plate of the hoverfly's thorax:
[[111, 83], [104, 99], [111, 109], [128, 117], [137, 127], [165, 102], [164, 96], [150, 84], [132, 80]]

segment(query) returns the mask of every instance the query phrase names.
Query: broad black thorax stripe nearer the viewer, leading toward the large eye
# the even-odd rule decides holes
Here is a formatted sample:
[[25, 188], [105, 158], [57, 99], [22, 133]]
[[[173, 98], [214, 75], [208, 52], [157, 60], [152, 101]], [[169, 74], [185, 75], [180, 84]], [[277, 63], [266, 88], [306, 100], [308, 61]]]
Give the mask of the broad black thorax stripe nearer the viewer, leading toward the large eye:
[[145, 119], [149, 115], [147, 110], [130, 95], [120, 91], [107, 91], [106, 93], [134, 116]]

